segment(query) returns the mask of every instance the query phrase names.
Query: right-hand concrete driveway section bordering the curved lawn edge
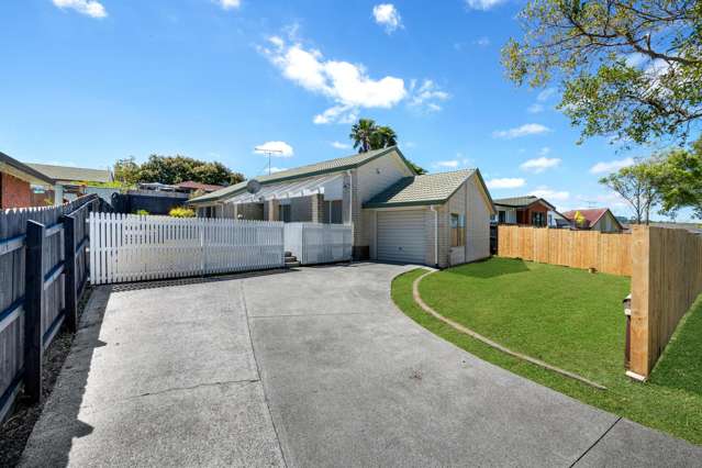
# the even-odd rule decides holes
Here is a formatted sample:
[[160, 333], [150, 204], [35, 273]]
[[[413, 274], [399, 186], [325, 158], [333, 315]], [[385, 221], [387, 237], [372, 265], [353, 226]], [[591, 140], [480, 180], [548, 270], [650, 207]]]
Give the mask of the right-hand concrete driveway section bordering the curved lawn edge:
[[702, 450], [480, 360], [390, 299], [410, 267], [244, 280], [290, 466], [693, 466]]

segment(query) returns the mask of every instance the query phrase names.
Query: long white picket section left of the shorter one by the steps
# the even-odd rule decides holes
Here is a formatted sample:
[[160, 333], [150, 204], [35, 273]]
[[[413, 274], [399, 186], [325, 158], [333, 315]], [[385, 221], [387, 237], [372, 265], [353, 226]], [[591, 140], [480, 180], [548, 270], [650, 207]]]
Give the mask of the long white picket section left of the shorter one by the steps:
[[92, 285], [279, 268], [283, 223], [90, 213]]

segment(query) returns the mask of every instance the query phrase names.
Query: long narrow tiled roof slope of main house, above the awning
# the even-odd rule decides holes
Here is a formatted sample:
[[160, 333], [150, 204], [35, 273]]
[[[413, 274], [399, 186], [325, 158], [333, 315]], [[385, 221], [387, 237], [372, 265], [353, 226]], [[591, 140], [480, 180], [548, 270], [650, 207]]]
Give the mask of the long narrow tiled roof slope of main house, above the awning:
[[[388, 154], [392, 151], [397, 151], [400, 157], [404, 158], [404, 156], [402, 156], [402, 153], [400, 153], [397, 146], [391, 146], [389, 148], [375, 149], [367, 153], [359, 153], [352, 156], [323, 160], [321, 163], [311, 164], [308, 166], [296, 167], [293, 169], [281, 170], [280, 172], [271, 174], [270, 176], [256, 177], [256, 180], [258, 180], [263, 185], [266, 185], [271, 182], [281, 182], [285, 180], [299, 179], [302, 177], [316, 176], [320, 174], [353, 169], [377, 157]], [[193, 198], [192, 200], [190, 200], [190, 202], [201, 203], [201, 202], [211, 202], [211, 201], [221, 200], [221, 199], [234, 196], [237, 192], [241, 192], [242, 190], [246, 189], [246, 183], [247, 181], [235, 183], [233, 186], [223, 188], [212, 193], [207, 193], [207, 194], [203, 194], [202, 197]]]

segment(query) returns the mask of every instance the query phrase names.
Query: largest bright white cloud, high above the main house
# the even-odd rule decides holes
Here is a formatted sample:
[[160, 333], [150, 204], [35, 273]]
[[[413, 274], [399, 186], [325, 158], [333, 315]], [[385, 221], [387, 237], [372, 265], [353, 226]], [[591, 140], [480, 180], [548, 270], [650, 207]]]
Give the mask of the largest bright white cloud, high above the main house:
[[301, 44], [287, 44], [281, 37], [269, 37], [270, 47], [259, 52], [276, 65], [283, 77], [308, 91], [325, 96], [335, 104], [314, 118], [315, 123], [348, 123], [360, 108], [392, 108], [408, 91], [402, 78], [387, 76], [372, 79], [363, 65], [325, 59], [316, 49]]

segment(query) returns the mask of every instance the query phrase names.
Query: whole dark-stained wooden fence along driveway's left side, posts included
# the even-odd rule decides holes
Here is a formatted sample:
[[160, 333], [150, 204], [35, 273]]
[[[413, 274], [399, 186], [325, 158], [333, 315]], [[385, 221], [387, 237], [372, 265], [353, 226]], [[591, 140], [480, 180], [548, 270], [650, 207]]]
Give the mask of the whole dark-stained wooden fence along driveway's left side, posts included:
[[75, 326], [88, 275], [85, 220], [99, 203], [88, 196], [62, 207], [0, 211], [0, 421], [23, 383], [38, 400], [42, 354], [65, 320]]

